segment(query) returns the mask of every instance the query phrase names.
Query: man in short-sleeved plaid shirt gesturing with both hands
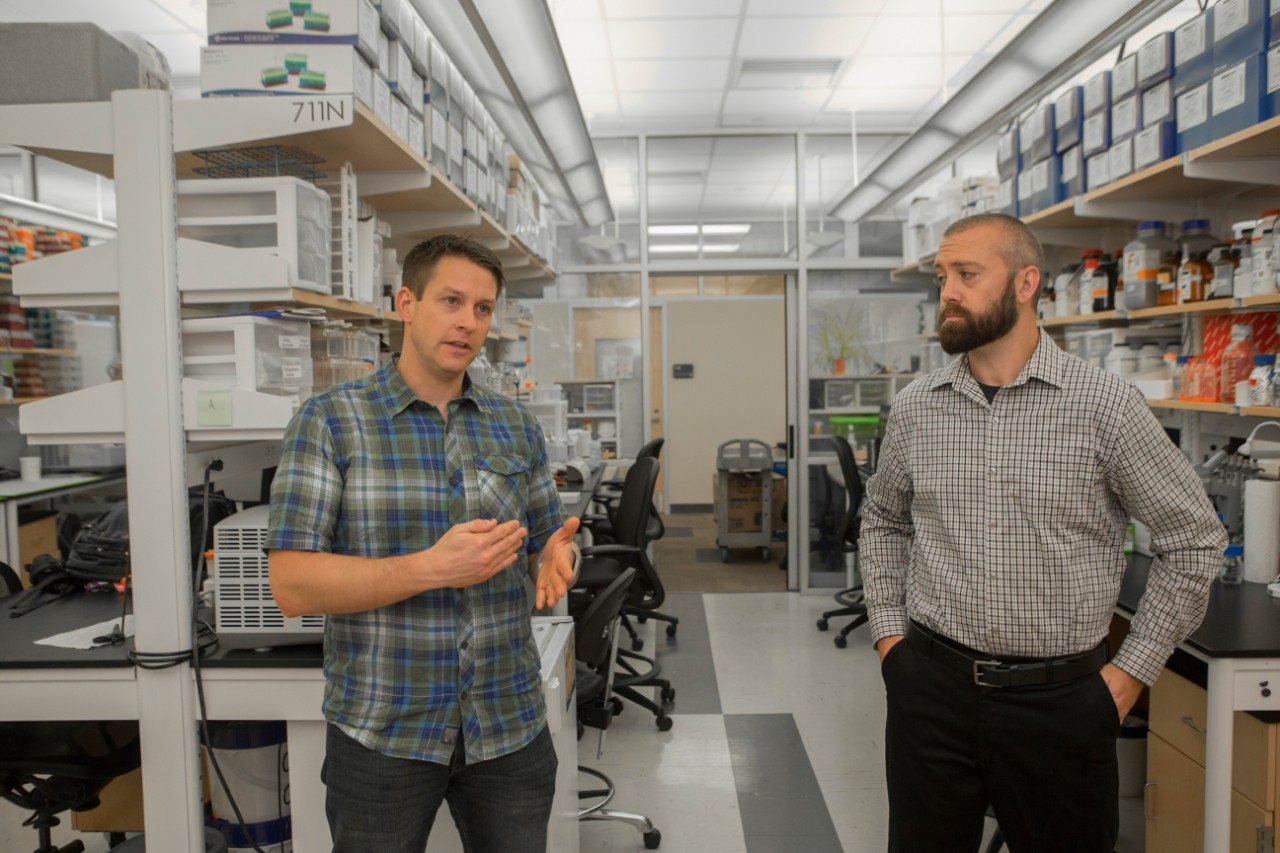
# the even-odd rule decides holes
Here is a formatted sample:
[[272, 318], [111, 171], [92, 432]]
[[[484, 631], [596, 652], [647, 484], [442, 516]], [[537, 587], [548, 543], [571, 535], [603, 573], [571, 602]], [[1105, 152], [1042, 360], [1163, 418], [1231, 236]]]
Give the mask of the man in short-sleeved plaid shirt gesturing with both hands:
[[567, 592], [579, 523], [538, 421], [466, 375], [502, 284], [474, 241], [419, 243], [399, 357], [285, 433], [271, 592], [285, 616], [326, 615], [337, 853], [422, 853], [442, 802], [468, 850], [545, 850], [557, 761], [530, 613]]

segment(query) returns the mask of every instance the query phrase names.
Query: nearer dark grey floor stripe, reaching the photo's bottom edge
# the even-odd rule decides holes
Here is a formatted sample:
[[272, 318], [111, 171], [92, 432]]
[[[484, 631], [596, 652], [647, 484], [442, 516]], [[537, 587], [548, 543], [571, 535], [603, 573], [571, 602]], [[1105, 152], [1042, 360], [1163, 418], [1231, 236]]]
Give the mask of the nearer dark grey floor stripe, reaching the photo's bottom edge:
[[748, 853], [842, 853], [790, 713], [724, 716]]

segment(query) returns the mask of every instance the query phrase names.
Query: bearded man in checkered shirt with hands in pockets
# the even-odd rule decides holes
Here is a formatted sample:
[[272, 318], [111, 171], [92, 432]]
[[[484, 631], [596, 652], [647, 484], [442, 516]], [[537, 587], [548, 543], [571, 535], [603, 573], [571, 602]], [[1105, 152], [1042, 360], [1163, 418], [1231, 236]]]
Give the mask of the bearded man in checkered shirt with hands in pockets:
[[[868, 483], [892, 853], [977, 850], [988, 804], [1012, 853], [1110, 853], [1120, 721], [1203, 619], [1226, 546], [1143, 396], [1038, 328], [1043, 268], [1018, 219], [947, 229], [938, 339], [963, 355], [897, 394]], [[1108, 660], [1130, 516], [1156, 556]]]

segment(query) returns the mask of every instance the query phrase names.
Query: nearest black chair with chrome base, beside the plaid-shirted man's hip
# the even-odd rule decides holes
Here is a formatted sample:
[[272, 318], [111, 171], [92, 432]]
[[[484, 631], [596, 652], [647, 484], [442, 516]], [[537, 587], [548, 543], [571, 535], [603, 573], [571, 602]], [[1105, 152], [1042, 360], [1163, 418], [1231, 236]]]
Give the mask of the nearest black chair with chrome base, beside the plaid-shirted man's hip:
[[[596, 758], [604, 749], [604, 734], [621, 708], [621, 703], [613, 698], [612, 693], [614, 662], [618, 654], [618, 621], [627, 589], [635, 576], [635, 569], [625, 570], [591, 599], [585, 612], [573, 620], [579, 736], [581, 736], [582, 726], [599, 730]], [[654, 829], [653, 821], [644, 815], [605, 808], [617, 794], [612, 779], [594, 767], [579, 765], [577, 770], [604, 784], [603, 789], [579, 790], [580, 800], [599, 800], [579, 809], [577, 818], [580, 821], [621, 821], [635, 826], [641, 833], [646, 848], [650, 850], [658, 848], [662, 843], [662, 833]]]

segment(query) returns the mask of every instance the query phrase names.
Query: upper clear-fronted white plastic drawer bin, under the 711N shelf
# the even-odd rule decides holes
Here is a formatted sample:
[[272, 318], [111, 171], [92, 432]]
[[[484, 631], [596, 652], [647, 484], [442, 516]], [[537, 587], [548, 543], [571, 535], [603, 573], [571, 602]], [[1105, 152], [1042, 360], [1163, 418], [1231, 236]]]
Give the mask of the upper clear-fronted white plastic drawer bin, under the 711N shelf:
[[279, 255], [293, 287], [332, 291], [329, 193], [298, 178], [178, 181], [178, 236]]

